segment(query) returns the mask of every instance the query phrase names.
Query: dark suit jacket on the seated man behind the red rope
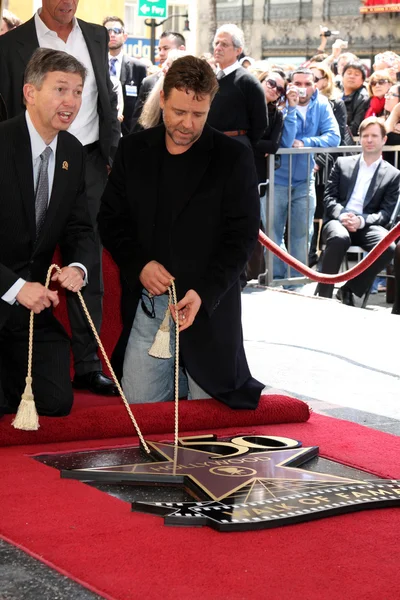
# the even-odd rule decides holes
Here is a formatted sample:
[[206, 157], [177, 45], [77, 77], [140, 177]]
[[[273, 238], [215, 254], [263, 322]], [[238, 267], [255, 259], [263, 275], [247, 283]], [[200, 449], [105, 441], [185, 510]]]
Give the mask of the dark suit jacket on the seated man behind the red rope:
[[[338, 219], [345, 212], [357, 181], [360, 156], [337, 159], [325, 188], [324, 221]], [[361, 216], [366, 225], [389, 223], [400, 191], [400, 172], [382, 160], [371, 180], [364, 200]]]

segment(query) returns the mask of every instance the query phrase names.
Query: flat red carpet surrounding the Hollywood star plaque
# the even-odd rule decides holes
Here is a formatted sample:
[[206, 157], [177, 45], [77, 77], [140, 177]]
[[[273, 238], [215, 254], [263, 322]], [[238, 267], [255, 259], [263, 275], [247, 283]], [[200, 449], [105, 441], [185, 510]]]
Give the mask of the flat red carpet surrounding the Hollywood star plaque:
[[[212, 431], [293, 437], [319, 445], [323, 456], [400, 478], [400, 438], [348, 422], [313, 415], [301, 424]], [[130, 443], [132, 438], [120, 438], [2, 448], [0, 534], [115, 600], [400, 596], [398, 509], [247, 533], [168, 528], [99, 490], [60, 479], [58, 471], [28, 456]]]

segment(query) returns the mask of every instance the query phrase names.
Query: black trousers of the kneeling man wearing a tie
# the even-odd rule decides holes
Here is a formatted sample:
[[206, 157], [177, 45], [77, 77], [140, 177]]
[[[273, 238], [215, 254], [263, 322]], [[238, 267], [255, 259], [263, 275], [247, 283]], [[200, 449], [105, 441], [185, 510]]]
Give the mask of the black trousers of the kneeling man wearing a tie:
[[[30, 311], [14, 305], [0, 330], [0, 413], [15, 413], [28, 368]], [[70, 341], [50, 309], [34, 317], [32, 390], [39, 415], [63, 417], [73, 402]]]

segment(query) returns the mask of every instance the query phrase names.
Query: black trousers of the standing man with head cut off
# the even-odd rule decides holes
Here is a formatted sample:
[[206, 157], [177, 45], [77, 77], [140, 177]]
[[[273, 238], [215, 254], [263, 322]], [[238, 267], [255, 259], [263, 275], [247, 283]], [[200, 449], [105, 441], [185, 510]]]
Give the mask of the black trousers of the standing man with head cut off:
[[[97, 215], [100, 199], [107, 183], [107, 165], [98, 148], [86, 156], [86, 194], [89, 212], [96, 238], [96, 255], [92, 257], [92, 267], [88, 274], [89, 283], [82, 289], [82, 295], [98, 332], [101, 328], [103, 312], [102, 246], [97, 228]], [[72, 330], [72, 353], [77, 375], [85, 375], [101, 370], [97, 355], [97, 342], [82, 310], [76, 294], [67, 294], [68, 317]]]

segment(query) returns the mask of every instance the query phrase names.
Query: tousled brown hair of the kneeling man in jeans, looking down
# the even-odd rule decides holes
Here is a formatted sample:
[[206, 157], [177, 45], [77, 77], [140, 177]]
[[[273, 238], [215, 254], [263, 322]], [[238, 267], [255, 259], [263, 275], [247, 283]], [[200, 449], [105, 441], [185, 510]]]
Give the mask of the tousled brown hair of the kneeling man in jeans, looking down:
[[208, 62], [196, 56], [182, 56], [168, 69], [163, 91], [165, 99], [175, 88], [187, 93], [193, 92], [196, 100], [209, 95], [212, 101], [218, 87], [217, 78]]

